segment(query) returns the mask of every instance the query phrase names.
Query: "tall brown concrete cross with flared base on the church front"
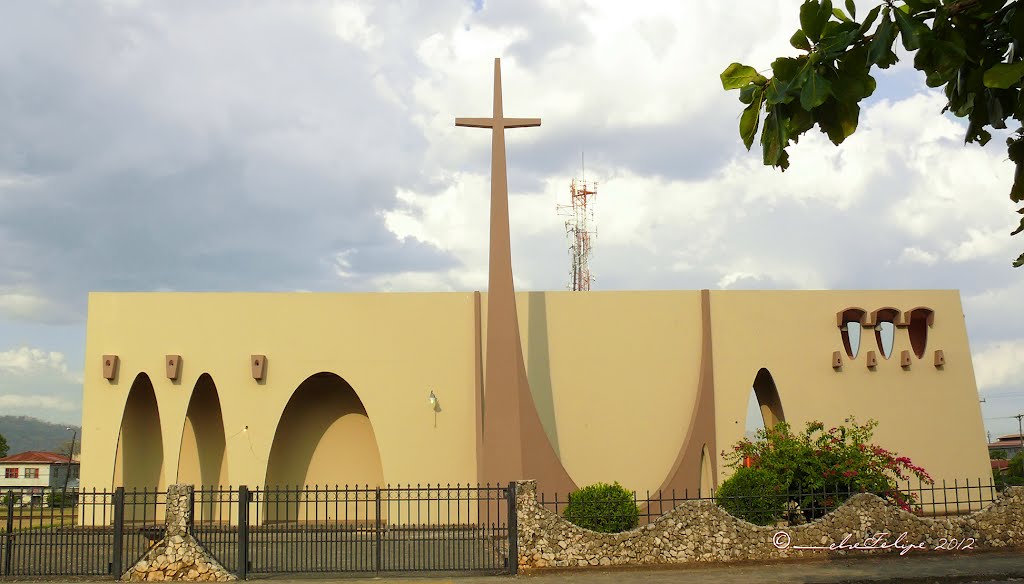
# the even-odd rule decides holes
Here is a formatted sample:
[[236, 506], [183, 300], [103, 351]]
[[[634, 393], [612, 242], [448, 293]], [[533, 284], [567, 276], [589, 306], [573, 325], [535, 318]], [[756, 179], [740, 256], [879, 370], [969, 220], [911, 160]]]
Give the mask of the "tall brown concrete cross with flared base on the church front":
[[[567, 493], [565, 472], [541, 425], [529, 391], [519, 341], [519, 318], [512, 283], [509, 186], [505, 129], [540, 126], [539, 118], [506, 118], [502, 113], [501, 59], [495, 59], [495, 107], [490, 118], [456, 118], [457, 126], [489, 128], [490, 255], [487, 275], [487, 337], [483, 378], [482, 456], [477, 478], [507, 483], [536, 478]], [[478, 397], [477, 399], [480, 399]]]

